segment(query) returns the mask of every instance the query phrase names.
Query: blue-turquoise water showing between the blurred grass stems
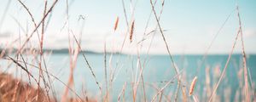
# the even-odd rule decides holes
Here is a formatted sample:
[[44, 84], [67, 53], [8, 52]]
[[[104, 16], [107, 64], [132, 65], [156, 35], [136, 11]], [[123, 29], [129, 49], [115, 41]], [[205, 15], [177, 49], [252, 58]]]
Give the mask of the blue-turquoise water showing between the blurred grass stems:
[[[105, 92], [106, 83], [104, 75], [104, 54], [85, 54], [92, 70], [96, 75], [96, 80], [100, 82], [100, 85]], [[113, 79], [112, 88], [110, 89], [111, 98], [113, 101], [117, 101], [119, 93], [121, 93], [123, 86], [125, 88], [125, 99], [132, 99], [132, 82], [138, 80], [140, 67], [137, 62], [137, 55], [125, 55], [125, 54], [113, 54], [110, 61], [111, 54], [107, 54], [107, 71], [108, 71], [108, 88], [109, 82]], [[171, 59], [167, 55], [141, 55], [141, 65], [143, 66], [143, 79], [145, 83], [145, 90], [147, 99], [150, 100], [156, 94], [155, 89], [152, 86], [162, 88], [167, 81], [175, 76], [174, 68], [172, 67]], [[173, 59], [183, 75], [183, 86], [189, 88], [190, 82], [194, 77], [198, 77], [196, 82], [195, 94], [199, 99], [205, 100], [206, 95], [206, 67], [209, 68], [210, 72], [210, 86], [218, 80], [218, 71], [223, 71], [226, 60], [228, 59], [227, 54], [208, 55], [207, 59], [202, 61], [202, 55], [174, 55]], [[68, 54], [51, 54], [46, 59], [47, 68], [49, 72], [59, 77], [61, 81], [66, 82], [69, 76], [69, 56]], [[109, 62], [110, 61], [110, 62]], [[247, 68], [250, 70], [252, 82], [256, 82], [256, 55], [247, 55]], [[203, 62], [203, 63], [202, 63]], [[4, 64], [3, 64], [4, 65]], [[3, 66], [2, 65], [2, 66]], [[111, 66], [111, 67], [110, 67]], [[218, 67], [219, 66], [219, 70]], [[230, 100], [235, 99], [236, 91], [240, 91], [239, 82], [243, 84], [242, 78], [239, 79], [237, 73], [242, 68], [241, 54], [233, 54], [230, 59], [230, 64], [227, 68], [224, 80], [220, 83], [217, 94], [222, 99], [227, 96], [224, 95], [225, 89], [230, 88]], [[114, 70], [116, 69], [116, 70]], [[112, 78], [111, 71], [114, 73]], [[114, 72], [113, 72], [114, 71]], [[216, 75], [217, 72], [217, 75]], [[33, 73], [37, 73], [34, 71]], [[215, 73], [215, 74], [214, 74]], [[220, 73], [219, 73], [220, 74]], [[242, 76], [243, 77], [243, 76]], [[61, 96], [64, 90], [64, 85], [57, 80], [53, 80], [55, 91], [58, 96]], [[251, 81], [251, 80], [249, 80]], [[141, 85], [141, 84], [140, 84]], [[82, 87], [83, 86], [83, 87]], [[175, 89], [177, 88], [177, 80], [175, 79], [164, 91], [170, 99], [173, 99]], [[79, 55], [76, 68], [74, 69], [74, 89], [78, 94], [82, 94], [85, 90], [91, 97], [96, 95], [99, 98], [99, 88], [96, 85], [96, 81], [92, 76], [88, 65], [86, 65], [82, 54]], [[240, 94], [240, 97], [241, 97]], [[182, 93], [179, 93], [182, 96]], [[137, 99], [143, 99], [142, 87], [138, 88]], [[182, 98], [182, 97], [180, 97]]]

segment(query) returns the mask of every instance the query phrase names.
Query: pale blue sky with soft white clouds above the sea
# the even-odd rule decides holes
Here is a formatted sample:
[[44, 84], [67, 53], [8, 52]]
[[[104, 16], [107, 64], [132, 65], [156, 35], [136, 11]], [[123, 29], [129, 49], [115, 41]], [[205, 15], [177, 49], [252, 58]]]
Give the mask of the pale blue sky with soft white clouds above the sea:
[[[44, 0], [22, 0], [22, 2], [26, 4], [38, 23], [43, 17]], [[50, 0], [48, 8], [52, 3], [53, 0]], [[162, 0], [158, 0], [155, 4], [157, 15], [160, 14], [161, 3]], [[7, 8], [8, 4], [9, 8]], [[139, 50], [142, 54], [146, 54], [154, 37], [149, 54], [167, 54], [159, 29], [155, 34], [143, 36], [144, 32], [148, 33], [157, 27], [154, 14], [151, 14], [150, 0], [124, 0], [128, 27], [122, 0], [68, 0], [68, 21], [66, 4], [66, 0], [60, 0], [46, 19], [49, 20], [49, 24], [44, 34], [44, 48], [67, 48], [69, 28], [77, 37], [81, 31], [83, 32], [82, 37], [79, 38], [82, 40], [81, 47], [84, 50], [102, 52], [106, 41], [108, 52], [119, 52], [134, 20], [132, 42], [129, 41], [128, 34], [122, 52], [136, 54]], [[229, 54], [239, 28], [236, 5], [239, 6], [241, 14], [245, 51], [247, 54], [256, 54], [255, 0], [166, 0], [160, 16], [160, 26], [165, 30], [164, 35], [171, 53], [204, 54], [224, 24], [208, 54]], [[83, 16], [84, 20], [79, 19], [80, 16]], [[117, 17], [119, 17], [119, 26], [116, 31], [113, 31]], [[148, 29], [145, 30], [148, 18]], [[26, 34], [30, 34], [34, 29], [29, 14], [16, 0], [10, 2], [1, 0], [0, 20], [2, 48], [19, 37], [22, 37], [20, 42], [24, 42]], [[83, 24], [84, 27], [82, 27]], [[140, 49], [141, 46], [137, 43], [144, 37], [143, 47]], [[19, 42], [13, 45], [19, 46]], [[32, 37], [32, 46], [38, 46], [36, 33]], [[235, 53], [241, 53], [241, 40], [237, 41]]]

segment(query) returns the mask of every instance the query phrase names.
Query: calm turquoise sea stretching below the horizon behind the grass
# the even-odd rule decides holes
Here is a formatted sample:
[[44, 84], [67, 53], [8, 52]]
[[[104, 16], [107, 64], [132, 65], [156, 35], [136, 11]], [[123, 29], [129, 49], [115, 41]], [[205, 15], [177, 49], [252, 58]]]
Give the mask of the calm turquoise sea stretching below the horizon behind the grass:
[[[176, 72], [172, 59], [166, 54], [106, 54], [105, 56], [105, 54], [84, 53], [84, 55], [79, 54], [76, 61], [73, 69], [73, 85], [70, 88], [81, 97], [85, 94], [88, 97], [102, 99], [108, 92], [109, 99], [112, 101], [119, 99], [131, 101], [134, 93], [132, 88], [138, 85], [137, 100], [143, 100], [143, 92], [145, 92], [145, 99], [150, 101], [160, 88], [166, 86], [163, 91], [163, 96], [165, 96], [163, 100], [165, 98], [173, 100], [178, 88], [178, 74], [178, 77], [182, 79], [180, 88], [186, 90], [187, 94], [189, 94], [190, 83], [197, 77], [193, 94], [199, 100], [206, 101], [212, 94], [212, 89], [216, 86], [221, 73], [224, 72], [228, 57], [228, 54], [208, 54], [207, 56], [175, 54], [172, 55], [172, 59], [177, 68]], [[1, 71], [12, 73], [18, 77], [20, 75], [17, 73], [21, 73], [21, 75], [23, 73], [20, 78], [29, 82], [26, 72], [20, 70], [19, 66], [7, 59], [0, 60]], [[32, 56], [27, 57], [26, 60], [32, 65], [38, 65], [38, 60], [33, 59]], [[21, 63], [21, 65], [24, 64]], [[61, 98], [66, 88], [63, 82], [67, 84], [68, 77], [71, 75], [70, 56], [63, 53], [45, 55], [45, 65], [52, 76], [58, 77], [55, 79], [50, 76], [50, 80], [55, 88], [56, 97]], [[38, 77], [38, 68], [31, 65], [27, 65], [27, 67], [35, 77]], [[256, 54], [247, 54], [248, 81], [251, 93], [255, 91], [255, 67]], [[220, 101], [241, 100], [244, 94], [243, 87], [242, 55], [232, 54], [214, 98], [218, 98]], [[75, 96], [72, 91], [69, 93], [71, 96]], [[181, 91], [178, 96], [178, 99], [183, 99]]]

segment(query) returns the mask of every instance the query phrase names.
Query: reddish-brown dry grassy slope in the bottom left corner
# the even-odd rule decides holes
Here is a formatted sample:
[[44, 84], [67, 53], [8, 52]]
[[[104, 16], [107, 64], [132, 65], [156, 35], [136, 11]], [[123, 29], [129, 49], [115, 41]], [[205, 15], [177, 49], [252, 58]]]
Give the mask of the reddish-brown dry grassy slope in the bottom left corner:
[[[38, 98], [38, 99], [37, 99]], [[0, 101], [48, 101], [41, 88], [33, 88], [26, 82], [22, 82], [9, 74], [0, 73]]]

